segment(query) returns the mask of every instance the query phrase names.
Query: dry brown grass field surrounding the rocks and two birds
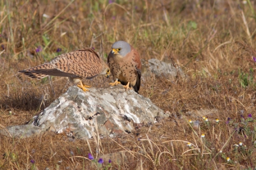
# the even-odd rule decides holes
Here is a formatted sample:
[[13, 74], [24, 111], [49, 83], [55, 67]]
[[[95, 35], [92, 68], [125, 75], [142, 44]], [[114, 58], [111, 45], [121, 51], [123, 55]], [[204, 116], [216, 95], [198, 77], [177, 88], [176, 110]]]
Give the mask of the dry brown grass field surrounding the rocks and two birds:
[[[254, 169], [256, 4], [246, 2], [1, 1], [0, 128], [28, 122], [68, 88], [65, 78], [35, 81], [17, 71], [85, 46], [99, 51], [100, 35], [104, 58], [113, 42], [125, 40], [143, 59], [178, 63], [188, 79], [145, 77], [140, 94], [169, 111], [170, 119], [124, 137], [81, 141], [50, 133], [28, 139], [1, 135], [0, 169]], [[36, 52], [38, 47], [42, 51]], [[108, 81], [88, 83], [108, 87]], [[205, 122], [189, 112], [200, 109], [217, 112]], [[200, 129], [193, 130], [189, 119], [200, 120]], [[242, 147], [234, 146], [239, 142]], [[103, 167], [88, 160], [88, 153], [100, 158], [115, 152], [125, 157]]]

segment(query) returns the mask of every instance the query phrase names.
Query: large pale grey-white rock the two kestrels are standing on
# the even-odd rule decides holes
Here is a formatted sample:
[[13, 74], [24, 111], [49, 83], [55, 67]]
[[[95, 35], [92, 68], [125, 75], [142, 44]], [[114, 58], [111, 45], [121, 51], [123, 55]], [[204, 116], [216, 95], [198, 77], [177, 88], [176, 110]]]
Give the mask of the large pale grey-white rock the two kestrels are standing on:
[[121, 85], [90, 88], [86, 93], [72, 86], [28, 125], [6, 128], [16, 137], [29, 137], [45, 131], [65, 132], [79, 139], [90, 138], [96, 133], [102, 137], [115, 137], [168, 116], [148, 98], [134, 90], [125, 91]]

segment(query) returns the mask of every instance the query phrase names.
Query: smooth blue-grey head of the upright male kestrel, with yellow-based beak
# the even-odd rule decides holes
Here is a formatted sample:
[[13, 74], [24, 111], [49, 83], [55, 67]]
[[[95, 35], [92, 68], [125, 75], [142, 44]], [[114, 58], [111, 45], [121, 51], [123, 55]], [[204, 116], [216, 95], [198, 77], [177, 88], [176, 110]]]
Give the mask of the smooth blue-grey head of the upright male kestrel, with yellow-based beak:
[[121, 56], [126, 56], [129, 52], [131, 52], [131, 45], [124, 41], [118, 41], [113, 43], [112, 45], [112, 52], [114, 54], [119, 54]]

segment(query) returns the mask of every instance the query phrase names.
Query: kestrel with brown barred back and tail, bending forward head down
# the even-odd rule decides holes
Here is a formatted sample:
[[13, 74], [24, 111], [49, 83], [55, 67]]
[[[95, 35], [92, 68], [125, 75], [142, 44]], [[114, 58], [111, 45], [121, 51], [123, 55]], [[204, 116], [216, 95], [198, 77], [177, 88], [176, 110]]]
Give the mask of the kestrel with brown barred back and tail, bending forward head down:
[[99, 57], [93, 49], [74, 50], [52, 59], [49, 63], [35, 66], [27, 70], [21, 70], [32, 79], [42, 79], [47, 75], [54, 75], [60, 77], [68, 77], [70, 81], [77, 85], [83, 91], [88, 91], [81, 79], [92, 79], [97, 75], [105, 75], [109, 77], [109, 66]]

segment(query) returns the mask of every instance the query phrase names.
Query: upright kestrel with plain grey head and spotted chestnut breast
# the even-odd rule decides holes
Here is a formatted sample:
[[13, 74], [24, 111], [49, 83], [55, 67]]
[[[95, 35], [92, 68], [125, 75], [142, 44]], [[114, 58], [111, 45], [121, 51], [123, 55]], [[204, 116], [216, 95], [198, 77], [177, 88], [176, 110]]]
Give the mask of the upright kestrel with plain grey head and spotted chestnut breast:
[[141, 61], [140, 54], [129, 43], [118, 41], [113, 43], [112, 50], [108, 55], [108, 65], [114, 81], [111, 86], [125, 85], [138, 93], [140, 89]]

